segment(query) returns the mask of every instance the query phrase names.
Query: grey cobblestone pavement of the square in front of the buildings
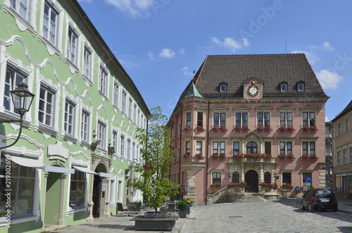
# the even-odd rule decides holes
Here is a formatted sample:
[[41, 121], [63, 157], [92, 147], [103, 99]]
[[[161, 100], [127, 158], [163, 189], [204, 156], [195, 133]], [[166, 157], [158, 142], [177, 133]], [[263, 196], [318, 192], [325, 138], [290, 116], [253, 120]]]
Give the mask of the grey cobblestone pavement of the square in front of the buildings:
[[[310, 213], [300, 210], [296, 200], [192, 206], [188, 218], [177, 220], [172, 232], [352, 232], [352, 212], [344, 212]], [[134, 232], [130, 219], [99, 218], [56, 232]]]

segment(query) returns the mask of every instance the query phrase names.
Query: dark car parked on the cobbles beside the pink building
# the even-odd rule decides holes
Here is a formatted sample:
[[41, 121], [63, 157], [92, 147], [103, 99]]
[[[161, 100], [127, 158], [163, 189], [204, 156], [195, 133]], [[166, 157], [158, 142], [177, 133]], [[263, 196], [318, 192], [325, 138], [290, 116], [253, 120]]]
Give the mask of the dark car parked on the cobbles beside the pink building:
[[336, 212], [337, 199], [334, 191], [331, 189], [309, 189], [306, 194], [303, 195], [300, 207], [302, 210], [308, 208], [310, 212], [325, 209]]

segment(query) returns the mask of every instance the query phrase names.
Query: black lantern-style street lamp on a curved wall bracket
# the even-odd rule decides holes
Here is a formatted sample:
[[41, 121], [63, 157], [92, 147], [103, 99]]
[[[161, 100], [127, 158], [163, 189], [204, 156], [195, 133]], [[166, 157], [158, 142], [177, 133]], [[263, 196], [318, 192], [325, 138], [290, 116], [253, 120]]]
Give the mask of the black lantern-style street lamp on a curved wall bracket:
[[28, 90], [28, 85], [24, 82], [20, 82], [18, 87], [13, 91], [10, 91], [13, 101], [13, 106], [15, 106], [15, 111], [18, 111], [20, 114], [20, 120], [0, 120], [1, 123], [4, 122], [20, 122], [20, 132], [18, 134], [17, 139], [13, 141], [13, 144], [8, 146], [0, 147], [0, 150], [13, 146], [18, 139], [20, 139], [20, 135], [22, 133], [22, 125], [23, 125], [23, 115], [30, 111], [30, 106], [32, 105], [32, 101], [34, 99], [34, 94]]

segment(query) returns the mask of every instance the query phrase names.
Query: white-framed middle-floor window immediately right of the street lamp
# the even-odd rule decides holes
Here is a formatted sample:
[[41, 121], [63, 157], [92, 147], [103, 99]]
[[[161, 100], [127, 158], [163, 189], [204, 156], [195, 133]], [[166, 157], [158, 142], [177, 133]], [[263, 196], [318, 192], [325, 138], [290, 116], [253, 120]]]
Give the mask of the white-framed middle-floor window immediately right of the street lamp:
[[49, 127], [53, 126], [54, 93], [43, 84], [39, 94], [39, 122]]

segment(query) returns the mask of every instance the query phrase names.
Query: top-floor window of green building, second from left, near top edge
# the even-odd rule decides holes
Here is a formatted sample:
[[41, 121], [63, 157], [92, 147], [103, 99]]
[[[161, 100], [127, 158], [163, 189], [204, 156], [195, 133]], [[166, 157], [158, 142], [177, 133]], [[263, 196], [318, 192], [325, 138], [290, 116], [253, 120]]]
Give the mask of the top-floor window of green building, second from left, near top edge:
[[58, 32], [58, 12], [54, 7], [45, 1], [44, 4], [44, 21], [43, 21], [43, 36], [49, 40], [54, 46], [58, 46], [56, 34]]

